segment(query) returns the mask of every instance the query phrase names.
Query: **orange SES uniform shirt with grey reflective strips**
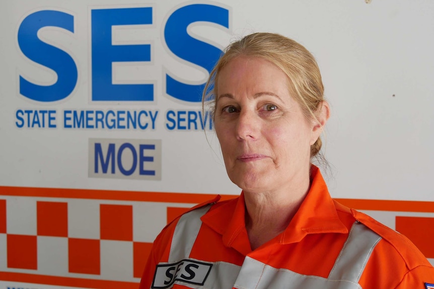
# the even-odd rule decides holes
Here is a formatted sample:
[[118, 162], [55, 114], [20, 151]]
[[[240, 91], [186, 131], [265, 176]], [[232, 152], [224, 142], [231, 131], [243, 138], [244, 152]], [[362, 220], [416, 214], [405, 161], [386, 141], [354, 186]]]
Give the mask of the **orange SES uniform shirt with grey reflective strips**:
[[253, 251], [244, 194], [219, 199], [164, 228], [140, 289], [424, 289], [434, 283], [434, 268], [405, 236], [332, 200], [316, 167], [291, 223]]

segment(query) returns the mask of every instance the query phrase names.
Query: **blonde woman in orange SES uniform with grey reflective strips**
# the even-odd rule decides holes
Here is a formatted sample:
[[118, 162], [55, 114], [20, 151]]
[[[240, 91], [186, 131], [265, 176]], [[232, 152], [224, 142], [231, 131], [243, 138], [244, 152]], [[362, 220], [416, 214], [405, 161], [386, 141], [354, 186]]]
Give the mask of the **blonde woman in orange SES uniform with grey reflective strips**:
[[[283, 36], [231, 44], [207, 83], [241, 196], [192, 208], [154, 242], [140, 288], [429, 288], [402, 235], [333, 201], [311, 159], [329, 118], [313, 56]], [[208, 95], [209, 97], [209, 95]]]

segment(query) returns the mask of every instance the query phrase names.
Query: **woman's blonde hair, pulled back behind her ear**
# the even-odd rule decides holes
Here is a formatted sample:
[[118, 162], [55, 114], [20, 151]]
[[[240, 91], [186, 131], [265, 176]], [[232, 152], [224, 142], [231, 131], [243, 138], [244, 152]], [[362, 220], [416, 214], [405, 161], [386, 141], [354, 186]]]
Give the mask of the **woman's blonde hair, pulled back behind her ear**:
[[[216, 83], [229, 61], [240, 56], [259, 57], [279, 67], [288, 77], [289, 91], [300, 104], [307, 120], [317, 121], [316, 113], [324, 101], [321, 73], [313, 55], [300, 43], [274, 33], [254, 33], [233, 42], [225, 50], [209, 74], [202, 95], [202, 107], [208, 103], [215, 113]], [[319, 157], [321, 138], [311, 146], [311, 158]]]

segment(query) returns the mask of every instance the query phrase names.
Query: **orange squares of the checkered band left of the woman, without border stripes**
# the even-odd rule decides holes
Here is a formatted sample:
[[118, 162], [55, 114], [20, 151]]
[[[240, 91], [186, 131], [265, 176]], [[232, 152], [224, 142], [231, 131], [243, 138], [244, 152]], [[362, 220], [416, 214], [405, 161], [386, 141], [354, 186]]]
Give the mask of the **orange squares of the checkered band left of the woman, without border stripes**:
[[[168, 222], [188, 208], [168, 207]], [[0, 233], [6, 232], [6, 200], [0, 200]], [[132, 240], [132, 206], [100, 205], [100, 240], [69, 238], [67, 203], [37, 202], [37, 236], [68, 238], [68, 271], [101, 273], [100, 240]], [[7, 234], [8, 267], [37, 270], [37, 236]], [[152, 243], [133, 242], [133, 277], [140, 278]]]

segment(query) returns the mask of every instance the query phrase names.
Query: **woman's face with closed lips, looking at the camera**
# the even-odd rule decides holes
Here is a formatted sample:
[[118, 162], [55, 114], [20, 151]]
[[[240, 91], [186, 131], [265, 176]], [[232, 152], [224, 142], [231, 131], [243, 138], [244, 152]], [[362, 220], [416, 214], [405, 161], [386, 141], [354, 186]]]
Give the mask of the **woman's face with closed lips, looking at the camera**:
[[321, 132], [291, 97], [283, 71], [238, 57], [216, 85], [214, 125], [229, 178], [245, 191], [290, 188], [309, 178], [310, 146]]

